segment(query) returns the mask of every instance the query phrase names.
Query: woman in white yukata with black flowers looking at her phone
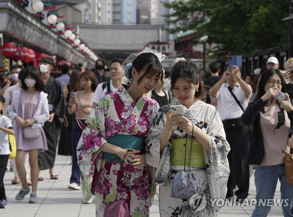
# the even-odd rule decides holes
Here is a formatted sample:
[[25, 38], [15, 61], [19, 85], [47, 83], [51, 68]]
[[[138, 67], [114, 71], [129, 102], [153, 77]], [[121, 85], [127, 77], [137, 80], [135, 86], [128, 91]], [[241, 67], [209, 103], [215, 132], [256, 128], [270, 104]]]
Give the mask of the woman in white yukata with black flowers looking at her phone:
[[[153, 183], [160, 185], [161, 217], [217, 216], [220, 207], [211, 199], [225, 199], [230, 146], [216, 108], [198, 99], [205, 94], [204, 88], [195, 63], [176, 58], [171, 68], [171, 91], [178, 102], [159, 109], [146, 140], [147, 162], [157, 168]], [[172, 116], [172, 105], [183, 105], [184, 116]], [[190, 150], [191, 142], [192, 154], [185, 164], [185, 150]], [[197, 180], [198, 195], [190, 200], [170, 197], [175, 174], [187, 164]]]

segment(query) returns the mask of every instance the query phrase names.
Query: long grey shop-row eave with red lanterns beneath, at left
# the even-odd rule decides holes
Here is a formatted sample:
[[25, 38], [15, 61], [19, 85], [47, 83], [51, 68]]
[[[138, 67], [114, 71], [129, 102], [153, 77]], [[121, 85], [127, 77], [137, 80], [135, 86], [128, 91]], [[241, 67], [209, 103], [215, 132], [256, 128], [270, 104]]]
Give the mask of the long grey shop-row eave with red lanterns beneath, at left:
[[[14, 43], [17, 48], [14, 57], [5, 57], [3, 52], [0, 53], [0, 72], [6, 71], [6, 68], [4, 69], [6, 58], [8, 58], [8, 66], [15, 63], [13, 61], [21, 60], [24, 66], [38, 66], [42, 56], [51, 56], [56, 62], [63, 60], [71, 64], [82, 63], [87, 69], [94, 67], [93, 58], [80, 50], [79, 46], [62, 37], [60, 34], [62, 32], [53, 31], [52, 27], [45, 25], [37, 17], [26, 11], [16, 1], [0, 0], [2, 49], [9, 50], [3, 47], [6, 42]], [[30, 49], [30, 52], [22, 51], [25, 50], [23, 47]], [[11, 48], [12, 51], [13, 49]], [[23, 55], [30, 55], [30, 59], [26, 60]]]

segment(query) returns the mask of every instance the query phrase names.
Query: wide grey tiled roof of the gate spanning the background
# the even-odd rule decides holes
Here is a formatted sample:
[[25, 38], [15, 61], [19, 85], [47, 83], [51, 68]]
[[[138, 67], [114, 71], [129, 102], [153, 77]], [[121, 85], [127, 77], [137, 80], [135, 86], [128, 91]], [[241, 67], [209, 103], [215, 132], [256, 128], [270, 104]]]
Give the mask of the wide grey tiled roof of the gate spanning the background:
[[162, 25], [79, 25], [79, 35], [97, 51], [139, 51], [148, 41], [165, 41]]

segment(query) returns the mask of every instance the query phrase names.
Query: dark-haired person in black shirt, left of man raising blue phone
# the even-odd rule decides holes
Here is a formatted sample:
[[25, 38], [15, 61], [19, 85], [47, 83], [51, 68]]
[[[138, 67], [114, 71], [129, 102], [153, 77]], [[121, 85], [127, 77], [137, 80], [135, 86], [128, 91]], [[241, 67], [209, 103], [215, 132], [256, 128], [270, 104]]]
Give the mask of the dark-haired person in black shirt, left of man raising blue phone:
[[[218, 62], [212, 62], [209, 64], [209, 72], [211, 72], [211, 76], [207, 77], [203, 82], [203, 84], [207, 86], [207, 92], [209, 92], [209, 89], [221, 79], [221, 76], [219, 76], [220, 66], [221, 64]], [[211, 104], [211, 98], [208, 93], [206, 103]]]

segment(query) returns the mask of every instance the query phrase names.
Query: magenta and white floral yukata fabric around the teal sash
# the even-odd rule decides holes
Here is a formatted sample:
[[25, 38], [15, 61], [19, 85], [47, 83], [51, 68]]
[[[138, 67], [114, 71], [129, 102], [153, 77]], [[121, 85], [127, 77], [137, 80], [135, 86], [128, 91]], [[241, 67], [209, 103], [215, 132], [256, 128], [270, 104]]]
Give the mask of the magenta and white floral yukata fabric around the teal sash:
[[[96, 216], [103, 216], [105, 204], [112, 199], [115, 200], [114, 197], [117, 194], [115, 185], [120, 181], [117, 171], [121, 166], [121, 163], [115, 161], [105, 162], [102, 159], [103, 152], [99, 150], [99, 147], [107, 142], [107, 138], [117, 133], [129, 136], [148, 136], [158, 109], [158, 103], [144, 97], [144, 95], [134, 104], [124, 86], [121, 86], [117, 92], [104, 96], [88, 116], [77, 146], [77, 161], [82, 176], [83, 200], [88, 201], [92, 193], [96, 193]], [[131, 166], [129, 169], [131, 170]], [[131, 214], [135, 211], [144, 212], [145, 216], [148, 216], [149, 205], [147, 203], [150, 203], [149, 197], [154, 196], [153, 188], [149, 184], [149, 197], [144, 192], [147, 189], [139, 189], [139, 185], [136, 185], [137, 179], [151, 178], [149, 166], [144, 165], [143, 168], [139, 167], [139, 169], [141, 171], [128, 172], [127, 183], [130, 184], [123, 191], [129, 194], [123, 195], [123, 197], [127, 197], [126, 201], [131, 200], [130, 216], [144, 215]], [[114, 185], [114, 183], [116, 184]], [[146, 184], [149, 181], [142, 183]], [[135, 191], [143, 191], [143, 193]], [[144, 209], [146, 210], [144, 211]]]

